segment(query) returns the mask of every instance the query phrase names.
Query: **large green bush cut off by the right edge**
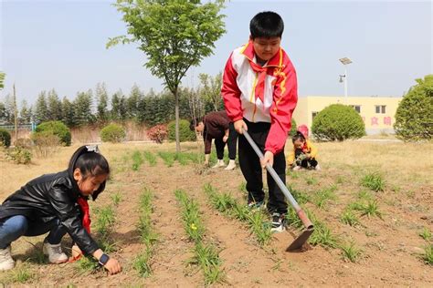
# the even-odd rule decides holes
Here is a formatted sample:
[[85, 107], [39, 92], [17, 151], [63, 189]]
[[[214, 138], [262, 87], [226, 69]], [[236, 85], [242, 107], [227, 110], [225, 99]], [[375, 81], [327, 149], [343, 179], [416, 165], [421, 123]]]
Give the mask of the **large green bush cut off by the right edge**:
[[404, 140], [431, 140], [433, 136], [433, 74], [417, 79], [396, 109], [396, 136]]

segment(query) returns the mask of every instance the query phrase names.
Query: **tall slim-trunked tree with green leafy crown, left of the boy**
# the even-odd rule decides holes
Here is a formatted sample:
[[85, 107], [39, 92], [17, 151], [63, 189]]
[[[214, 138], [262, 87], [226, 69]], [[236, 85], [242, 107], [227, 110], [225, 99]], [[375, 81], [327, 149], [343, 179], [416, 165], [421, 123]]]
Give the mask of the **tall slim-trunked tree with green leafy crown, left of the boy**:
[[164, 80], [174, 95], [176, 151], [179, 143], [178, 87], [186, 71], [212, 54], [215, 42], [225, 32], [219, 15], [224, 1], [118, 0], [115, 6], [123, 14], [128, 35], [111, 38], [108, 47], [119, 43], [139, 43], [148, 58], [145, 67]]

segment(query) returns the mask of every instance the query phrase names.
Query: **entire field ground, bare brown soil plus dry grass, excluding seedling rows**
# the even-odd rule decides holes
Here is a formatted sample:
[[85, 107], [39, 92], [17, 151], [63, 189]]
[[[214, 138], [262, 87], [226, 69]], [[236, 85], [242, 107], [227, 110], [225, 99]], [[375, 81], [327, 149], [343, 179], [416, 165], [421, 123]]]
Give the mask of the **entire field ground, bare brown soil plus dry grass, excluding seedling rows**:
[[[288, 143], [286, 149], [290, 149]], [[27, 180], [40, 174], [66, 169], [77, 146], [62, 148], [48, 159], [33, 159], [32, 164], [16, 165], [1, 159], [0, 201]], [[216, 243], [225, 273], [215, 286], [288, 287], [288, 286], [433, 286], [433, 266], [422, 260], [428, 240], [419, 236], [433, 231], [433, 145], [401, 142], [346, 141], [318, 144], [321, 171], [290, 172], [287, 182], [309, 196], [303, 204], [316, 218], [326, 223], [335, 236], [336, 248], [312, 246], [305, 252], [285, 252], [293, 240], [292, 232], [274, 234], [269, 244], [260, 246], [248, 225], [216, 211], [207, 201], [204, 185], [210, 183], [218, 192], [229, 192], [239, 202], [243, 177], [239, 169], [206, 170], [189, 162], [164, 164], [157, 151], [174, 151], [174, 144], [103, 144], [102, 153], [112, 167], [111, 180], [100, 199], [91, 203], [96, 209], [111, 204], [111, 195], [121, 195], [114, 207], [115, 221], [110, 239], [115, 243], [111, 256], [120, 260], [123, 271], [107, 276], [101, 270], [83, 271], [77, 262], [51, 265], [40, 256], [43, 237], [21, 238], [14, 242], [16, 269], [0, 273], [0, 284], [20, 286], [204, 286], [203, 273], [189, 265], [194, 243], [189, 241], [175, 190], [185, 190], [199, 203], [206, 227], [206, 239]], [[183, 143], [183, 151], [195, 152], [195, 143]], [[156, 165], [144, 160], [132, 169], [134, 151], [150, 151]], [[378, 171], [385, 180], [384, 191], [371, 191], [360, 182], [365, 175]], [[318, 191], [332, 187], [333, 197], [317, 201]], [[137, 224], [139, 195], [144, 188], [153, 192], [152, 223], [157, 242], [151, 267], [153, 273], [141, 277], [132, 267], [143, 251]], [[341, 217], [350, 203], [376, 203], [381, 217], [353, 211], [359, 224], [344, 224]], [[381, 219], [382, 218], [382, 219]], [[93, 218], [92, 218], [93, 219]], [[94, 223], [94, 221], [93, 221]], [[430, 245], [432, 239], [429, 240]], [[343, 257], [345, 243], [353, 242], [359, 257], [351, 262]], [[69, 236], [63, 246], [68, 251]], [[41, 259], [42, 258], [42, 259]], [[1, 286], [1, 285], [0, 285]]]

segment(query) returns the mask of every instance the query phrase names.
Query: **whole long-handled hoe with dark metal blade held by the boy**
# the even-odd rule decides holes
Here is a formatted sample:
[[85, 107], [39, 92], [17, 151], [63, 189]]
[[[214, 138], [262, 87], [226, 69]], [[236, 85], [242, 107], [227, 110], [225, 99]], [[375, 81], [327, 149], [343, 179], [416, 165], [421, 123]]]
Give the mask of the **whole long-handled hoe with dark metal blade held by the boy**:
[[[251, 145], [252, 149], [256, 152], [257, 156], [259, 156], [259, 159], [263, 159], [263, 153], [260, 151], [259, 147], [256, 145], [256, 143], [251, 139], [248, 132], [246, 130], [243, 130], [243, 135], [248, 140], [249, 145]], [[314, 231], [314, 227], [312, 225], [312, 221], [308, 219], [307, 214], [302, 211], [301, 206], [298, 204], [297, 201], [291, 196], [290, 191], [287, 189], [286, 185], [280, 180], [280, 177], [278, 176], [277, 172], [270, 166], [269, 164], [266, 165], [266, 170], [268, 170], [270, 176], [277, 182], [277, 185], [280, 187], [280, 190], [283, 192], [284, 196], [286, 196], [287, 200], [290, 201], [291, 207], [296, 211], [296, 214], [298, 214], [298, 217], [301, 219], [303, 225], [305, 226], [305, 230], [301, 232], [301, 235], [299, 235], [295, 241], [293, 241], [289, 247], [286, 249], [286, 251], [293, 251], [293, 250], [299, 250], [302, 248], [302, 245], [307, 242], [308, 238], [312, 235], [312, 232]]]

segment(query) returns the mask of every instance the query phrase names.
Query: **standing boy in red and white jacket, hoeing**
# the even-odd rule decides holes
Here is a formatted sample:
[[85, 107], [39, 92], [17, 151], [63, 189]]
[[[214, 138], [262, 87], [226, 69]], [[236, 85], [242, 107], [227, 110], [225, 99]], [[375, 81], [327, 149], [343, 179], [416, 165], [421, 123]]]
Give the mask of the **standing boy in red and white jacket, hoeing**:
[[[269, 163], [286, 180], [284, 144], [298, 95], [296, 71], [280, 47], [284, 30], [280, 15], [261, 12], [251, 19], [249, 30], [248, 44], [235, 49], [227, 60], [221, 93], [227, 115], [240, 134], [239, 166], [247, 180], [248, 206], [254, 207], [265, 197], [262, 168]], [[244, 129], [264, 152], [261, 162], [242, 136]], [[269, 173], [267, 178], [272, 231], [283, 231], [287, 203]]]

